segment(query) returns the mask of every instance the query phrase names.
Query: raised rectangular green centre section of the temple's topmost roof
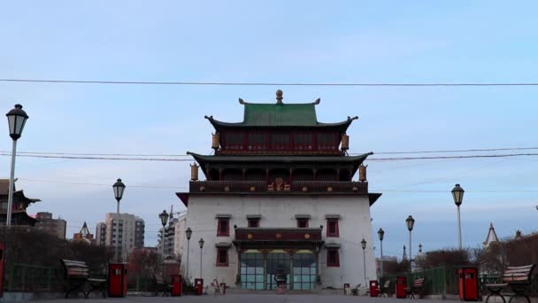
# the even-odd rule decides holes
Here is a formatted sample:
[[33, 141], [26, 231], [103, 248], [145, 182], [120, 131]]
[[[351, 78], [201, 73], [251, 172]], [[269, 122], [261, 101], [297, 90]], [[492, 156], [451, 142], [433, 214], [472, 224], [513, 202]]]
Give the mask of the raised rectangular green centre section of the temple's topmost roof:
[[316, 105], [245, 103], [242, 124], [250, 126], [317, 126]]

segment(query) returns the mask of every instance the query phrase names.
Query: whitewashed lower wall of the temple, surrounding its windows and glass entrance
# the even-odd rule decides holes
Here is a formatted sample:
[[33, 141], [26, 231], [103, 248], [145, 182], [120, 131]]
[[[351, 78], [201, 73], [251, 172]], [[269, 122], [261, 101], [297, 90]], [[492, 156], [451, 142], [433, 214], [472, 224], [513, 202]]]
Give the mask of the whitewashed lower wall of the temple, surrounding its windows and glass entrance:
[[[229, 237], [217, 237], [216, 214], [229, 214]], [[342, 288], [343, 284], [363, 287], [367, 281], [376, 279], [375, 257], [367, 195], [191, 195], [188, 199], [187, 227], [193, 230], [188, 264], [191, 280], [200, 277], [201, 250], [198, 245], [204, 238], [202, 277], [204, 281], [217, 279], [234, 287], [238, 271], [238, 253], [234, 241], [234, 225], [238, 228], [248, 226], [247, 215], [261, 214], [260, 228], [296, 228], [296, 215], [309, 215], [309, 227], [322, 230], [325, 245], [340, 245], [339, 267], [327, 267], [327, 249], [323, 245], [319, 251], [319, 276], [321, 287]], [[338, 221], [339, 237], [326, 237], [326, 215], [340, 215]], [[183, 234], [183, 233], [181, 233]], [[365, 267], [361, 240], [365, 239]], [[216, 245], [230, 244], [228, 266], [217, 267]], [[186, 246], [185, 246], [186, 249]], [[187, 253], [183, 253], [185, 264]], [[209, 283], [209, 282], [208, 282]]]

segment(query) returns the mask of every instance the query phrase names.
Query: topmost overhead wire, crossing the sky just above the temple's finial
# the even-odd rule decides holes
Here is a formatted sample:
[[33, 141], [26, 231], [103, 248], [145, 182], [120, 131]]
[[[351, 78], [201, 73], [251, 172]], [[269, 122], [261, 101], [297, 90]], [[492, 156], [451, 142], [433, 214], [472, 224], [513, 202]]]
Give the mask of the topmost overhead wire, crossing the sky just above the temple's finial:
[[538, 86], [538, 82], [458, 82], [458, 83], [367, 83], [367, 82], [145, 82], [65, 79], [0, 79], [0, 82], [73, 83], [73, 84], [128, 84], [128, 85], [213, 85], [213, 86], [348, 86], [348, 87], [464, 87], [464, 86]]

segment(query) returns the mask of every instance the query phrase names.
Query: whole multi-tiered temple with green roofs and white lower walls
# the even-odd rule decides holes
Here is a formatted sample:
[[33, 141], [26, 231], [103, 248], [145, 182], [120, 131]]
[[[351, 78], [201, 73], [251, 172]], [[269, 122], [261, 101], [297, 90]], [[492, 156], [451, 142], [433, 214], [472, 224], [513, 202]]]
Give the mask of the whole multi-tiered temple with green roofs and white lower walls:
[[205, 117], [214, 153], [188, 152], [196, 160], [189, 190], [177, 193], [193, 241], [181, 263], [190, 255], [191, 280], [249, 290], [275, 289], [277, 274], [288, 290], [365, 286], [376, 278], [370, 207], [381, 194], [368, 191], [363, 162], [372, 153], [348, 154], [357, 117], [322, 123], [319, 99], [282, 99], [280, 89], [270, 104], [239, 99], [242, 122]]

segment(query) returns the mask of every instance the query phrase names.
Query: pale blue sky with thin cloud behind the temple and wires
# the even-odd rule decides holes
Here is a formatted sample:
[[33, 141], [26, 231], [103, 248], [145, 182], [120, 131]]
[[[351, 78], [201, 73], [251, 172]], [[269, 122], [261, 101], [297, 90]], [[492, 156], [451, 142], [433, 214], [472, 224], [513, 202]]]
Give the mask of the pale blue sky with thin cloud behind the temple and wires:
[[[94, 1], [0, 6], [0, 78], [202, 82], [536, 82], [532, 1]], [[211, 151], [211, 125], [242, 119], [237, 97], [273, 102], [279, 87], [135, 86], [0, 82], [0, 107], [30, 115], [19, 151]], [[351, 152], [534, 147], [534, 87], [282, 87], [284, 102], [321, 98], [318, 118], [358, 115]], [[11, 139], [0, 140], [11, 150]], [[380, 157], [380, 156], [378, 156]], [[0, 176], [9, 175], [0, 158]], [[457, 245], [454, 183], [465, 188], [464, 245], [538, 229], [538, 157], [369, 163], [373, 229], [401, 254]], [[42, 198], [30, 213], [68, 221], [68, 237], [115, 211], [110, 186], [127, 183], [122, 212], [146, 221], [153, 245], [163, 208], [181, 209], [187, 163], [19, 158], [18, 187]], [[45, 182], [46, 181], [46, 182]], [[165, 185], [165, 189], [129, 185]], [[395, 191], [396, 190], [396, 191]], [[399, 190], [445, 190], [421, 192]], [[492, 192], [494, 191], [494, 192]], [[347, 239], [360, 242], [360, 239]], [[376, 246], [379, 246], [376, 243]], [[379, 252], [377, 252], [379, 253]]]

